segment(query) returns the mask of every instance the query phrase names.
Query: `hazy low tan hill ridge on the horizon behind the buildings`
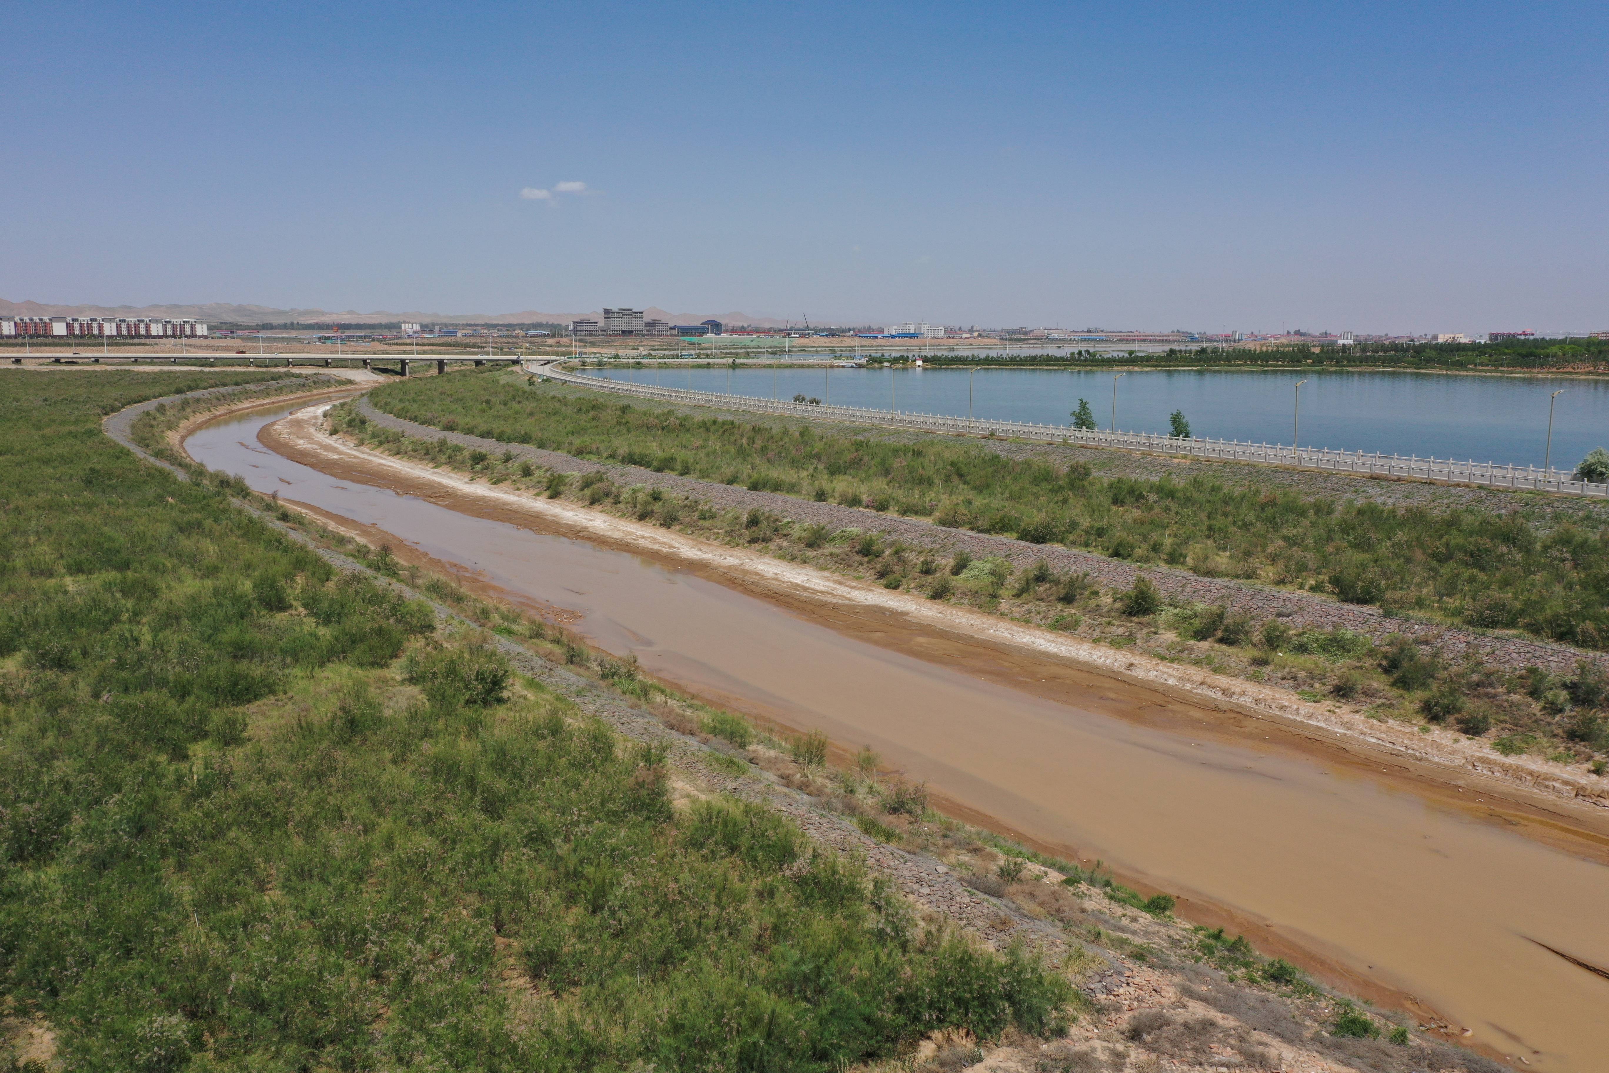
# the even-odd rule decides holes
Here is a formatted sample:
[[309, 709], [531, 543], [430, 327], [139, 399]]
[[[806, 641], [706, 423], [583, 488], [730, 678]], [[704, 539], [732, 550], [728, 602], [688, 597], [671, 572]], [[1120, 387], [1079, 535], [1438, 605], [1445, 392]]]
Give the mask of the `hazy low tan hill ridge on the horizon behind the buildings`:
[[[759, 328], [800, 327], [798, 320], [776, 317], [750, 317], [743, 312], [729, 314], [673, 314], [656, 306], [644, 310], [650, 319], [671, 323], [698, 323], [714, 319], [729, 325], [755, 325]], [[45, 302], [8, 302], [0, 298], [0, 317], [175, 317], [206, 320], [209, 323], [388, 323], [417, 320], [420, 323], [570, 323], [576, 317], [603, 319], [602, 309], [584, 314], [545, 314], [526, 309], [516, 314], [423, 314], [423, 312], [368, 312], [356, 309], [330, 312], [327, 309], [274, 309], [272, 306], [237, 306], [232, 302], [206, 302], [203, 306], [50, 306]]]

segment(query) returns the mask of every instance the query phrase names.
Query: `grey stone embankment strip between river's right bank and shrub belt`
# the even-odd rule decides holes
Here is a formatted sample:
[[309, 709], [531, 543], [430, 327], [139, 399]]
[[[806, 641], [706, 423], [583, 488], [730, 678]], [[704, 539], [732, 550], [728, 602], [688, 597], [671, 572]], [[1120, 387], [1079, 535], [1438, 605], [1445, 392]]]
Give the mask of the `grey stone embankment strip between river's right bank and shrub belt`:
[[1390, 616], [1379, 608], [1337, 603], [1305, 592], [1268, 589], [1223, 578], [1200, 578], [1170, 566], [1136, 566], [1123, 560], [1056, 544], [1028, 544], [1027, 541], [988, 536], [967, 529], [949, 529], [919, 518], [901, 518], [861, 507], [817, 504], [779, 492], [755, 492], [730, 484], [716, 484], [674, 473], [658, 473], [642, 467], [592, 462], [557, 450], [542, 450], [525, 444], [505, 444], [468, 433], [451, 433], [385, 413], [367, 397], [357, 401], [357, 410], [375, 425], [405, 436], [447, 439], [463, 447], [497, 454], [512, 450], [515, 457], [528, 458], [533, 465], [560, 473], [602, 471], [616, 484], [644, 484], [677, 495], [692, 495], [711, 502], [716, 508], [759, 508], [790, 521], [824, 524], [829, 529], [875, 529], [893, 539], [904, 541], [907, 545], [930, 549], [941, 555], [965, 550], [973, 558], [994, 555], [1009, 560], [1018, 568], [1044, 560], [1052, 569], [1086, 573], [1105, 589], [1130, 589], [1134, 579], [1142, 574], [1170, 600], [1223, 603], [1232, 613], [1249, 615], [1253, 619], [1279, 618], [1287, 621], [1294, 629], [1350, 629], [1376, 642], [1392, 634], [1405, 634], [1440, 650], [1450, 660], [1477, 656], [1485, 663], [1509, 669], [1540, 666], [1554, 672], [1570, 672], [1583, 658], [1609, 668], [1609, 660], [1604, 660], [1601, 653], [1588, 653], [1569, 645], [1553, 645], [1506, 634], [1440, 626], [1422, 619]]

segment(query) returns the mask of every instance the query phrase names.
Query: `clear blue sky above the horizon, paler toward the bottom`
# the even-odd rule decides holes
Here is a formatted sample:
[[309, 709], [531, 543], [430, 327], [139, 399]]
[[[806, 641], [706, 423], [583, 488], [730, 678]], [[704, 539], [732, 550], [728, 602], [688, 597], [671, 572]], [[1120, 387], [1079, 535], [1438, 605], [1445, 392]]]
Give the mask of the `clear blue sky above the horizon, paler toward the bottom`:
[[1601, 2], [55, 2], [8, 35], [11, 301], [1609, 328]]

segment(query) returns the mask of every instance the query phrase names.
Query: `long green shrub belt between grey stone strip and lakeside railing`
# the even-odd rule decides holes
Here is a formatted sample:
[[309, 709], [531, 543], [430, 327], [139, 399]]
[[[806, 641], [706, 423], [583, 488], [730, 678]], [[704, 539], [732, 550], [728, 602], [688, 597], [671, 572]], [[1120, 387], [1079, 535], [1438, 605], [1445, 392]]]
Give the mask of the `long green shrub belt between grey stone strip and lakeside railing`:
[[1493, 513], [1204, 475], [1107, 479], [959, 439], [700, 418], [497, 375], [396, 383], [372, 399], [407, 420], [505, 442], [1609, 648], [1609, 531], [1543, 524], [1521, 499]]

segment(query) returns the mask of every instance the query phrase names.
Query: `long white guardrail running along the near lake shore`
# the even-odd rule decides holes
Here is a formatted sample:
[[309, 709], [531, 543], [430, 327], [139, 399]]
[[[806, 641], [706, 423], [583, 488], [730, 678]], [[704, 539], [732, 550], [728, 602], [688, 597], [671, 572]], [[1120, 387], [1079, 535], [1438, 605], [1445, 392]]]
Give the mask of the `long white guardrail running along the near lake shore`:
[[759, 413], [800, 413], [830, 417], [866, 425], [916, 428], [928, 433], [962, 436], [1004, 436], [1012, 439], [1038, 439], [1057, 444], [1081, 444], [1086, 447], [1117, 447], [1120, 450], [1144, 450], [1163, 455], [1191, 455], [1195, 458], [1220, 458], [1224, 462], [1257, 462], [1286, 465], [1302, 470], [1326, 470], [1332, 473], [1358, 473], [1366, 476], [1401, 478], [1413, 481], [1450, 481], [1456, 484], [1483, 484], [1503, 489], [1535, 489], [1562, 492], [1566, 495], [1590, 495], [1609, 499], [1609, 484], [1577, 481], [1569, 470], [1541, 470], [1498, 462], [1458, 462], [1456, 458], [1419, 458], [1409, 455], [1384, 455], [1368, 450], [1331, 450], [1329, 447], [1286, 447], [1282, 444], [1252, 444], [1237, 439], [1175, 439], [1157, 433], [1115, 433], [1078, 430], [1068, 425], [1036, 425], [1033, 421], [993, 421], [986, 418], [943, 417], [938, 413], [906, 413], [901, 410], [872, 410], [858, 405], [813, 405], [808, 402], [784, 402], [780, 399], [756, 399], [753, 396], [693, 391], [690, 388], [658, 388], [618, 380], [584, 376], [555, 365], [528, 367], [528, 372], [552, 376], [563, 383], [595, 391], [613, 391], [648, 399], [677, 399], [703, 405], [724, 405]]

